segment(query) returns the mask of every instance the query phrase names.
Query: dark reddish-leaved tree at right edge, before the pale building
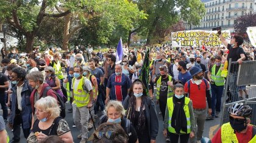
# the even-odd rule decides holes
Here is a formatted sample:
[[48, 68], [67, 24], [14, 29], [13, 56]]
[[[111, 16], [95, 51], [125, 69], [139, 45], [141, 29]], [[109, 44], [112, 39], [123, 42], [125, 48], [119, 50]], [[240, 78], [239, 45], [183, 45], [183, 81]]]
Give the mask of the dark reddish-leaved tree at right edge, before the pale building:
[[236, 19], [234, 25], [235, 33], [244, 36], [244, 34], [246, 34], [246, 27], [253, 26], [256, 26], [256, 13], [248, 13], [244, 16], [240, 16]]

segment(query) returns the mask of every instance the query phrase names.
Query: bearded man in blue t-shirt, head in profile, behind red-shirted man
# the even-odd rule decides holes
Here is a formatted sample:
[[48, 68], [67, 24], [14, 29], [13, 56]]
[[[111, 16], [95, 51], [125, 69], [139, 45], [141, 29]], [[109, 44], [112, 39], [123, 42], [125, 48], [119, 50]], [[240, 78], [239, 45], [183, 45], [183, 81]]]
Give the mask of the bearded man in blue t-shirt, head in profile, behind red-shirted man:
[[185, 61], [179, 61], [177, 70], [179, 71], [178, 80], [181, 81], [183, 85], [192, 78], [190, 72], [187, 71], [188, 69]]

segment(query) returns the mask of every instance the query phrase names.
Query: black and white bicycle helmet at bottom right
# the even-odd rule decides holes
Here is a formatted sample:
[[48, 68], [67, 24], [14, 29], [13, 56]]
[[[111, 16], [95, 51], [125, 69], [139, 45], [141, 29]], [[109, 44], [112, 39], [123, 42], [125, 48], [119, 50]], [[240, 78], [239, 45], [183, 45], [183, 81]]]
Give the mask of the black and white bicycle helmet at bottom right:
[[236, 103], [229, 107], [230, 115], [250, 117], [252, 115], [252, 108], [243, 103]]

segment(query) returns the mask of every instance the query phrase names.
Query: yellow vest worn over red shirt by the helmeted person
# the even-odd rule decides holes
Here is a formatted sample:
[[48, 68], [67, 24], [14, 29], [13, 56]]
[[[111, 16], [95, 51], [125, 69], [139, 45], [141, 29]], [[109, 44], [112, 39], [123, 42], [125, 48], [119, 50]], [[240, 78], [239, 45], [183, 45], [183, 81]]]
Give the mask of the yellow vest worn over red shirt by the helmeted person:
[[[233, 128], [231, 127], [230, 123], [227, 122], [226, 124], [223, 124], [221, 126], [221, 142], [222, 143], [238, 143], [238, 139], [236, 138], [236, 135], [234, 133]], [[256, 136], [249, 141], [249, 143], [256, 142]]]

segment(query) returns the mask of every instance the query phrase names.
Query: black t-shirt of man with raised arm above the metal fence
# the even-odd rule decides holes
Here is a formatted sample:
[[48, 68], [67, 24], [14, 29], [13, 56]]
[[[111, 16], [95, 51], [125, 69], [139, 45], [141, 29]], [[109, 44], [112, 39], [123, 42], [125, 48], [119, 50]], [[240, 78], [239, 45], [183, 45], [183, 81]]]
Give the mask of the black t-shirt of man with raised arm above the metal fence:
[[[244, 49], [241, 47], [233, 48], [231, 44], [227, 44], [227, 49], [229, 49], [229, 55], [227, 55], [227, 61], [229, 61], [230, 58], [232, 58], [232, 62], [236, 62], [238, 59], [240, 59], [240, 55], [244, 54]], [[229, 63], [230, 64], [230, 63]], [[232, 64], [230, 67], [230, 72], [235, 73], [238, 71], [238, 63]]]

